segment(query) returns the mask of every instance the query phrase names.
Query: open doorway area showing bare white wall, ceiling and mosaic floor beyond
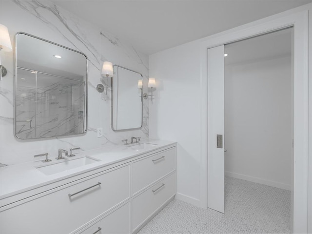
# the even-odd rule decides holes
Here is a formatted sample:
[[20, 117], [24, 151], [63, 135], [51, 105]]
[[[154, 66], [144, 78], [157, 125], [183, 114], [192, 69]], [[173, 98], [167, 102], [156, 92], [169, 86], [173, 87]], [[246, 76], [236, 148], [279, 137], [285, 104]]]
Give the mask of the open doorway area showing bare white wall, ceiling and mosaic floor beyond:
[[224, 46], [225, 215], [290, 233], [293, 28]]

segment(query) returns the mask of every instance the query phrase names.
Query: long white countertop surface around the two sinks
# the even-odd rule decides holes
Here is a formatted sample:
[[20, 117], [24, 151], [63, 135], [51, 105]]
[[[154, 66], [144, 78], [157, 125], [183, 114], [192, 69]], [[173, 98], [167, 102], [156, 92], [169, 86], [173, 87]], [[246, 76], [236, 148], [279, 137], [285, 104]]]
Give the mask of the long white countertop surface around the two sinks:
[[36, 167], [59, 163], [58, 160], [52, 160], [51, 162], [41, 162], [42, 158], [40, 158], [39, 160], [33, 162], [1, 167], [0, 200], [9, 196], [17, 195], [19, 193], [28, 190], [36, 189], [41, 186], [54, 183], [59, 180], [63, 180], [72, 176], [77, 176], [81, 173], [86, 173], [101, 167], [109, 166], [111, 164], [126, 159], [143, 155], [155, 151], [157, 149], [160, 149], [162, 147], [171, 145], [174, 146], [176, 144], [176, 142], [172, 141], [154, 140], [154, 139], [141, 140], [140, 143], [142, 144], [144, 142], [156, 144], [157, 146], [153, 147], [152, 149], [140, 149], [136, 151], [131, 149], [131, 147], [135, 146], [136, 144], [131, 145], [120, 144], [89, 151], [82, 151], [80, 153], [77, 153], [76, 156], [72, 158], [65, 157], [65, 159], [62, 160], [74, 160], [79, 157], [89, 156], [91, 158], [98, 159], [99, 161], [49, 176], [40, 172]]

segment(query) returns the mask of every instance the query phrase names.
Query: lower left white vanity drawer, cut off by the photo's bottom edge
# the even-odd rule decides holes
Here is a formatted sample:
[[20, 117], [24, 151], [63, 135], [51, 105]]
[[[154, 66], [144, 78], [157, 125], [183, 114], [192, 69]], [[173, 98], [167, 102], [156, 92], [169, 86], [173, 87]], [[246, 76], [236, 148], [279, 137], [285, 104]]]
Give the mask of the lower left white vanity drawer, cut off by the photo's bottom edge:
[[[98, 232], [97, 232], [98, 231]], [[96, 233], [97, 232], [97, 233]], [[130, 233], [130, 202], [119, 207], [79, 234], [127, 234]]]

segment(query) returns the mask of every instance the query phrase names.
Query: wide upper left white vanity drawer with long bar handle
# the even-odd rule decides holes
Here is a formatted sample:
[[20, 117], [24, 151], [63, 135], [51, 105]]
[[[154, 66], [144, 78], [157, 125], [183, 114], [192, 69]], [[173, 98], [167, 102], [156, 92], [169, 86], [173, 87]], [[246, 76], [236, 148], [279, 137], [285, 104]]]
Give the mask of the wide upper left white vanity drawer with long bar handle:
[[4, 210], [0, 233], [68, 234], [128, 199], [129, 174], [126, 165]]

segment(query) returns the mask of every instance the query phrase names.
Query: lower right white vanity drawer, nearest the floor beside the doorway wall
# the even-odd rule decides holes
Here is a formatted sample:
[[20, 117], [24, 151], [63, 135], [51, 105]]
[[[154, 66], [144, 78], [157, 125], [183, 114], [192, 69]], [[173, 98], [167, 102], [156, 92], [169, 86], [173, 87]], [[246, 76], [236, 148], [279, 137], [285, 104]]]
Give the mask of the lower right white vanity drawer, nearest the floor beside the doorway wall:
[[132, 198], [132, 231], [153, 215], [169, 198], [176, 194], [176, 173], [162, 179], [142, 194]]

